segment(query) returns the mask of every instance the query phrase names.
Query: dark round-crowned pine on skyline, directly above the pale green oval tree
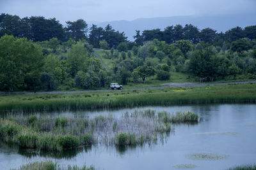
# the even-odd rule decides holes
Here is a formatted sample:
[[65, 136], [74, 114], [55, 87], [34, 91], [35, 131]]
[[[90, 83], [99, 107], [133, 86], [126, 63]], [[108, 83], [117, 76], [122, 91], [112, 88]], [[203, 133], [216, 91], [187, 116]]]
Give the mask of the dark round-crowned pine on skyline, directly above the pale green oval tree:
[[68, 37], [74, 39], [75, 41], [86, 38], [88, 24], [83, 19], [79, 19], [74, 22], [68, 21], [66, 23], [67, 27], [65, 30], [67, 31]]

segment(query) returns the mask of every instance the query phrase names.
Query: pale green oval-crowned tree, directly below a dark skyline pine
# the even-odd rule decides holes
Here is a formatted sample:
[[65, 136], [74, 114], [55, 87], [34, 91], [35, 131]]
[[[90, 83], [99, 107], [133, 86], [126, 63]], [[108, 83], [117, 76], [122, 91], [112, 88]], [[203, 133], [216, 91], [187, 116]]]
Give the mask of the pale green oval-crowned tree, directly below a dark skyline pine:
[[77, 71], [83, 71], [88, 58], [88, 52], [80, 41], [72, 45], [70, 52], [67, 54], [67, 64], [70, 68], [70, 74], [74, 77]]

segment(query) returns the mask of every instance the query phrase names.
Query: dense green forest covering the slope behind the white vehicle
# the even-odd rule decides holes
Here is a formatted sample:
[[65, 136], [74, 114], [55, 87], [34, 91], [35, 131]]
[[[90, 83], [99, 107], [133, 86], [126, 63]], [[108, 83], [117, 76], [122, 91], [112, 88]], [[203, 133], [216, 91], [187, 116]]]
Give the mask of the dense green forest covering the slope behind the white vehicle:
[[[134, 31], [134, 41], [111, 25], [79, 19], [0, 15], [0, 90], [68, 90], [169, 80], [173, 72], [195, 81], [256, 79], [256, 25], [226, 32], [187, 24]], [[111, 61], [103, 66], [95, 55]]]

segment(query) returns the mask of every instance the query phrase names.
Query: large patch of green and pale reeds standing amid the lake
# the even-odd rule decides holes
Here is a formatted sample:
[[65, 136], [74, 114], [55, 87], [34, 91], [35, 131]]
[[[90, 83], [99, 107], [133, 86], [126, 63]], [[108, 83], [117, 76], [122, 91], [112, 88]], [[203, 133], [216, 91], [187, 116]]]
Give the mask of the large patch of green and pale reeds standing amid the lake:
[[154, 110], [135, 110], [121, 117], [111, 114], [91, 118], [17, 115], [1, 118], [0, 136], [6, 143], [15, 143], [20, 148], [62, 152], [93, 144], [136, 146], [156, 143], [174, 131], [173, 123], [199, 120], [195, 113], [189, 111], [156, 114]]

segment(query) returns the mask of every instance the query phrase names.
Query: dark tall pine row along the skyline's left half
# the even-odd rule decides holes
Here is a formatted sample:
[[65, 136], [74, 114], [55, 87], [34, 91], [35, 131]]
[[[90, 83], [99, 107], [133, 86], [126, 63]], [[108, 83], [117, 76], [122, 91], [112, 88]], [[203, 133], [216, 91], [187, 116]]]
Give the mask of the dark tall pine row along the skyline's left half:
[[100, 47], [99, 41], [102, 39], [105, 39], [111, 47], [117, 46], [120, 42], [127, 42], [124, 32], [115, 31], [111, 25], [105, 28], [92, 25], [89, 29], [83, 19], [67, 21], [66, 24], [67, 26], [63, 27], [56, 18], [20, 18], [17, 15], [2, 13], [0, 15], [0, 37], [10, 34], [17, 38], [31, 39], [34, 42], [49, 41], [51, 38], [57, 38], [62, 42], [68, 41], [69, 38], [75, 41], [86, 39], [95, 48]]

